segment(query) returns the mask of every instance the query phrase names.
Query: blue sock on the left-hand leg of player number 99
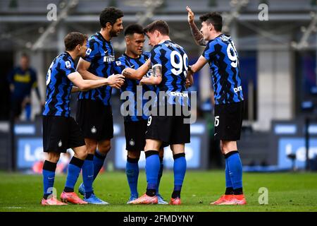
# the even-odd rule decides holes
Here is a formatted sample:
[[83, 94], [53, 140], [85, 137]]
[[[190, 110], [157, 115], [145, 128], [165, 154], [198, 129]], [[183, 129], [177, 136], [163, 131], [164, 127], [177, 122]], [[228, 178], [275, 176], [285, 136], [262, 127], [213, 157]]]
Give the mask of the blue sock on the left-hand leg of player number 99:
[[160, 170], [159, 152], [148, 150], [145, 152], [145, 172], [147, 174], [147, 195], [155, 196], [157, 179]]

